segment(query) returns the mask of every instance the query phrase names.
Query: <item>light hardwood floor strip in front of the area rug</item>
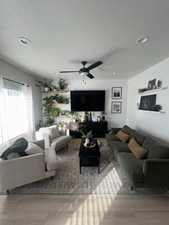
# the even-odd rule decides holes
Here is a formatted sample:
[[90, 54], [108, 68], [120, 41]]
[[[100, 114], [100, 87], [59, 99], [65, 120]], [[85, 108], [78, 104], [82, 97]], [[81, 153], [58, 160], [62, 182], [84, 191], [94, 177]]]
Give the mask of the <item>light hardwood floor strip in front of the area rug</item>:
[[166, 196], [0, 196], [0, 225], [167, 225]]

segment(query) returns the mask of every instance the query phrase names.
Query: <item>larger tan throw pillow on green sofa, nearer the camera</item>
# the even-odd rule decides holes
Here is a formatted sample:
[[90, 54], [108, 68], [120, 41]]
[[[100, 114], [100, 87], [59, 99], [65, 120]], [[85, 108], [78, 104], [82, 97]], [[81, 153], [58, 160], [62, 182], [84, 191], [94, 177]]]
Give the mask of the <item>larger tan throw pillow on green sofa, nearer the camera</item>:
[[128, 144], [128, 148], [131, 150], [136, 159], [143, 159], [147, 151], [140, 146], [134, 138], [132, 138]]

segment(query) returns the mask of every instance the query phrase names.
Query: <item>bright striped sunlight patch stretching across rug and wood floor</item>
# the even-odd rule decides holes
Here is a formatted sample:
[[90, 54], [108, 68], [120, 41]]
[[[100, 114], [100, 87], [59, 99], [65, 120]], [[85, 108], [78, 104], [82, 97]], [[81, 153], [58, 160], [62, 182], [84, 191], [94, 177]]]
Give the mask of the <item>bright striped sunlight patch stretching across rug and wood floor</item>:
[[[113, 180], [112, 180], [113, 179]], [[69, 217], [64, 225], [99, 225], [112, 207], [122, 183], [115, 168], [101, 181], [96, 189], [114, 184], [114, 195], [90, 195]]]

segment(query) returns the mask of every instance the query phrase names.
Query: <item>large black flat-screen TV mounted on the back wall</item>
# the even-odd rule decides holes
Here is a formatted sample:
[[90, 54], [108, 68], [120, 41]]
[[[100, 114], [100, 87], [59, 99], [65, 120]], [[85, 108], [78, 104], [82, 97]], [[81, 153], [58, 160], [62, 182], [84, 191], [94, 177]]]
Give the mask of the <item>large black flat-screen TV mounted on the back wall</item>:
[[104, 111], [105, 91], [71, 91], [72, 112]]

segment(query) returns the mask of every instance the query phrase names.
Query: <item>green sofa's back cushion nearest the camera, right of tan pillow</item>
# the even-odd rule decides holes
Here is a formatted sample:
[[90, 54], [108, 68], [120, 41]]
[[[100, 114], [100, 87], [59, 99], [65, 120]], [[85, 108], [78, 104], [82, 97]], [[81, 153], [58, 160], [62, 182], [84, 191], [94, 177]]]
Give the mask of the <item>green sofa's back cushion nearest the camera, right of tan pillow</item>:
[[169, 159], [169, 147], [146, 137], [143, 147], [148, 150], [148, 159]]

